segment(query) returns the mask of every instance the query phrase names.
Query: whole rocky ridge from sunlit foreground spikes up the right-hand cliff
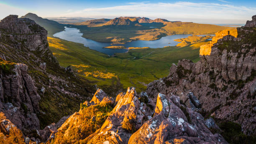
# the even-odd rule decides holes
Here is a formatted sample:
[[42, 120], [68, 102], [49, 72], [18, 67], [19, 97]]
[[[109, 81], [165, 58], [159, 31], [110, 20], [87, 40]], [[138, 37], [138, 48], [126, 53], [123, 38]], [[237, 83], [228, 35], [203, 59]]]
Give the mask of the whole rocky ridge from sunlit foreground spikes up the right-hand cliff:
[[146, 92], [129, 87], [114, 101], [98, 89], [51, 143], [255, 143], [255, 18], [216, 33], [212, 46], [202, 48], [210, 54], [172, 64], [169, 76], [149, 83]]

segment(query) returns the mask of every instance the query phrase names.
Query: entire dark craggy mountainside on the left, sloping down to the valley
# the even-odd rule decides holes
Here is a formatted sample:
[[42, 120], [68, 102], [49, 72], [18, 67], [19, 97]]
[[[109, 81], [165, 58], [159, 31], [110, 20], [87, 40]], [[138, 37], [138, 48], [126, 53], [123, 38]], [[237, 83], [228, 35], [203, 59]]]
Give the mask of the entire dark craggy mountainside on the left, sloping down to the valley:
[[91, 96], [85, 79], [62, 68], [49, 50], [47, 31], [28, 18], [0, 22], [0, 111], [26, 136], [67, 116]]

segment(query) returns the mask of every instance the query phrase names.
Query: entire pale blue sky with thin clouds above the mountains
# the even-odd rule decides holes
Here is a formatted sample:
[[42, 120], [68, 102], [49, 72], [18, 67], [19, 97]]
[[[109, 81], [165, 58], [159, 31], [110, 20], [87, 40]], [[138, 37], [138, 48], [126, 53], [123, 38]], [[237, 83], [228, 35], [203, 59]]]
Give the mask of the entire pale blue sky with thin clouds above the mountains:
[[0, 0], [0, 19], [10, 14], [46, 17], [165, 18], [210, 24], [244, 24], [256, 15], [256, 0]]

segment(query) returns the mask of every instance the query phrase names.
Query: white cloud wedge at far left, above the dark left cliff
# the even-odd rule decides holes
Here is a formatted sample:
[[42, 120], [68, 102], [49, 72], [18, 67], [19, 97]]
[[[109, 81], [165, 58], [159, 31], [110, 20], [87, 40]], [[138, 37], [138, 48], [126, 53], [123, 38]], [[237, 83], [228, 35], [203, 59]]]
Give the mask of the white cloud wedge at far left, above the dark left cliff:
[[25, 15], [28, 13], [28, 10], [23, 10], [20, 8], [12, 7], [3, 3], [0, 3], [0, 20], [5, 18], [8, 15]]

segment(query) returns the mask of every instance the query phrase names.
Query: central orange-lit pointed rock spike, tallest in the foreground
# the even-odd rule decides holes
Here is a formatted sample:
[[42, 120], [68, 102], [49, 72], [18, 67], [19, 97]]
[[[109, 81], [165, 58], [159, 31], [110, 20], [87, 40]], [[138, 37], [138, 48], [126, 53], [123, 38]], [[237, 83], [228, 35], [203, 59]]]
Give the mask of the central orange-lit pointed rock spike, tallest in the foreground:
[[129, 87], [125, 95], [120, 96], [102, 127], [87, 137], [88, 144], [127, 144], [131, 134], [151, 114], [150, 108], [138, 100], [134, 87]]

